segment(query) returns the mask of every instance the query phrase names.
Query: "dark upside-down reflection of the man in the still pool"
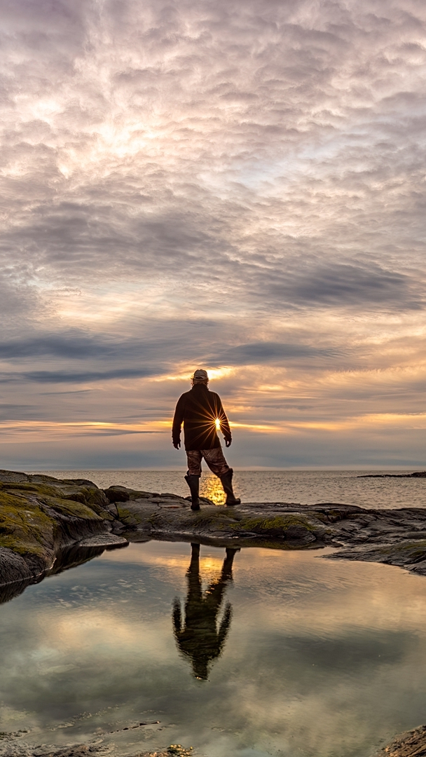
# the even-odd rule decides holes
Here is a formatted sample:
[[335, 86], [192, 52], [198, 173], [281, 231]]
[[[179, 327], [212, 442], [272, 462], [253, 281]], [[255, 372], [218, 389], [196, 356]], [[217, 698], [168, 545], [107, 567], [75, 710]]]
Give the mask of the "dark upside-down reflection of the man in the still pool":
[[227, 549], [222, 573], [203, 593], [200, 578], [200, 545], [191, 544], [188, 597], [185, 603], [185, 625], [179, 600], [173, 604], [173, 630], [179, 650], [191, 658], [195, 678], [207, 681], [209, 663], [219, 657], [231, 625], [232, 607], [226, 603], [222, 621], [217, 628], [217, 616], [226, 585], [232, 581], [232, 562], [238, 550]]

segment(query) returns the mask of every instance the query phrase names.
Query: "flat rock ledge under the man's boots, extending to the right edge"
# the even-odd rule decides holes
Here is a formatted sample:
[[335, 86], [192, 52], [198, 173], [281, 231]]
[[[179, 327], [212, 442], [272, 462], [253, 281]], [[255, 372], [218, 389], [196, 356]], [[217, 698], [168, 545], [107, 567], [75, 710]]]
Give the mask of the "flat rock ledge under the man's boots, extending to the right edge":
[[[426, 508], [366, 509], [322, 503], [244, 503], [217, 507], [209, 500], [192, 512], [174, 494], [142, 496], [114, 487], [117, 519], [131, 541], [198, 541], [230, 547], [336, 547], [328, 559], [384, 562], [426, 575]], [[107, 490], [105, 490], [107, 491]], [[114, 495], [112, 495], [114, 496]], [[127, 497], [127, 498], [125, 498]], [[112, 510], [112, 508], [111, 508]]]

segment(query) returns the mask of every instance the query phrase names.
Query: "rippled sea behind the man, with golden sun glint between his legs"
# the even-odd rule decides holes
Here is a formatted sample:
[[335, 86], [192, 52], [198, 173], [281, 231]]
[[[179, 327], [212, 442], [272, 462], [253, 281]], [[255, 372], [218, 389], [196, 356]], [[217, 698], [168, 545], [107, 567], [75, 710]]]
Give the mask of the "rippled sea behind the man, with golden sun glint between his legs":
[[[158, 494], [189, 494], [185, 472], [169, 470], [33, 471], [54, 478], [87, 478], [100, 488], [121, 485]], [[396, 478], [412, 470], [235, 471], [235, 494], [242, 502], [343, 503], [377, 509], [426, 506], [426, 478]], [[391, 478], [388, 476], [391, 475]], [[374, 476], [374, 478], [373, 478]], [[384, 478], [376, 478], [384, 476]], [[394, 478], [395, 477], [395, 478]], [[200, 492], [217, 505], [225, 498], [218, 478], [201, 476]]]

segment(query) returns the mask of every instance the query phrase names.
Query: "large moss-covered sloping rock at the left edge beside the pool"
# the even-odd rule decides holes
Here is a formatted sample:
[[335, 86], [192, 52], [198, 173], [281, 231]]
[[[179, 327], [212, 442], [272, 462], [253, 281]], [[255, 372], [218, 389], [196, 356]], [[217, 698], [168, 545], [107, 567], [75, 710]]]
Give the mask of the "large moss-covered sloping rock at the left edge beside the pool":
[[[85, 562], [85, 551], [128, 544], [111, 533], [109, 506], [92, 481], [0, 471], [0, 600], [65, 569], [71, 547]], [[75, 554], [68, 562], [79, 564]]]

